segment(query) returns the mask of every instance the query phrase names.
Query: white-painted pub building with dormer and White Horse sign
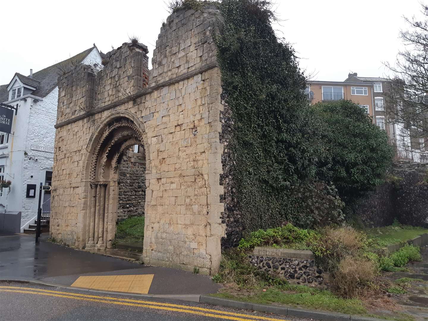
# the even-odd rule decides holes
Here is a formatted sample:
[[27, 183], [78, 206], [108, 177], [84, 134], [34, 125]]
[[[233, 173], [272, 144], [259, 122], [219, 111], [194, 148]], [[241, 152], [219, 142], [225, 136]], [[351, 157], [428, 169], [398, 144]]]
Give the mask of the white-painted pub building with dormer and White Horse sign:
[[[29, 76], [15, 73], [9, 84], [0, 86], [0, 102], [18, 104], [12, 133], [0, 132], [0, 180], [12, 181], [10, 192], [9, 188], [0, 191], [0, 213], [20, 211], [21, 232], [34, 224], [37, 217], [39, 184], [51, 184], [58, 76], [74, 68], [76, 63], [101, 69], [101, 55], [94, 44], [34, 74], [30, 71]], [[49, 212], [50, 192], [42, 193], [43, 211]]]

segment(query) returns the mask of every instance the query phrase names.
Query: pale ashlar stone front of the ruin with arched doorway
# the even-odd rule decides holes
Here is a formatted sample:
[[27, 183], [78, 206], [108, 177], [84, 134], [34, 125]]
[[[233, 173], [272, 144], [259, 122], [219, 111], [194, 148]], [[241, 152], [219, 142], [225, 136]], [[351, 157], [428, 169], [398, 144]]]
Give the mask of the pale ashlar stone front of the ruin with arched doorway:
[[120, 166], [139, 145], [146, 157], [143, 262], [217, 273], [225, 236], [222, 89], [212, 38], [218, 17], [211, 6], [170, 15], [150, 71], [147, 47], [124, 43], [107, 53], [101, 71], [78, 65], [59, 77], [52, 237], [80, 248], [112, 246]]

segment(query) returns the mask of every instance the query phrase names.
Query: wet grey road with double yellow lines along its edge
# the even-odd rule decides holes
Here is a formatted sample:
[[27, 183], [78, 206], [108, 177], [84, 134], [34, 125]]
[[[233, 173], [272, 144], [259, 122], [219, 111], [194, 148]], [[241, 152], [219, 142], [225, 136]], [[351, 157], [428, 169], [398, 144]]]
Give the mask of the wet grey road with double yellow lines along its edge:
[[[57, 291], [59, 293], [53, 293], [50, 291]], [[75, 294], [83, 294], [83, 296], [76, 296]], [[89, 297], [88, 295], [92, 295], [92, 297]], [[110, 298], [118, 298], [118, 300], [105, 298], [107, 296]], [[130, 302], [130, 299], [139, 301]], [[145, 302], [142, 302], [142, 300]], [[228, 309], [219, 306], [178, 300], [166, 301], [156, 299], [151, 300], [150, 302], [147, 301], [149, 300], [137, 297], [125, 297], [116, 294], [109, 295], [96, 292], [89, 293], [88, 291], [69, 290], [24, 283], [0, 282], [0, 321], [208, 321], [230, 320], [231, 317], [232, 320], [238, 321], [261, 320], [258, 316], [264, 317], [265, 321], [266, 318], [270, 318], [270, 321], [309, 321], [309, 319], [288, 318], [279, 315]], [[178, 304], [180, 306], [172, 306], [169, 303]], [[210, 309], [211, 311], [194, 309], [194, 307]], [[177, 309], [180, 311], [177, 311]], [[236, 313], [241, 315], [236, 315]]]

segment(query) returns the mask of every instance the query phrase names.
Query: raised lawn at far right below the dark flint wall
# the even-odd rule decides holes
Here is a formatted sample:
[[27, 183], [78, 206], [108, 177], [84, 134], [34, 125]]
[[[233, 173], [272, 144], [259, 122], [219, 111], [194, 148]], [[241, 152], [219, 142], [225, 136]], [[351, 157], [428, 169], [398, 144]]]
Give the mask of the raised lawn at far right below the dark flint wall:
[[428, 229], [416, 226], [385, 226], [366, 229], [364, 232], [381, 247], [397, 244], [428, 233]]

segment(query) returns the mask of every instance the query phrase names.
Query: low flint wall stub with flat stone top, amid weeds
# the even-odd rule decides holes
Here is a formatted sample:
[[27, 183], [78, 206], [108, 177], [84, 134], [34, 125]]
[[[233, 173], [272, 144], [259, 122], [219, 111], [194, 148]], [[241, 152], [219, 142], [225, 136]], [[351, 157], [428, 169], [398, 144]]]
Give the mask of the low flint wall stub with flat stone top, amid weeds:
[[258, 270], [285, 279], [291, 284], [321, 288], [330, 285], [329, 274], [315, 265], [311, 251], [256, 247], [248, 259]]

